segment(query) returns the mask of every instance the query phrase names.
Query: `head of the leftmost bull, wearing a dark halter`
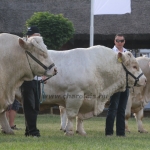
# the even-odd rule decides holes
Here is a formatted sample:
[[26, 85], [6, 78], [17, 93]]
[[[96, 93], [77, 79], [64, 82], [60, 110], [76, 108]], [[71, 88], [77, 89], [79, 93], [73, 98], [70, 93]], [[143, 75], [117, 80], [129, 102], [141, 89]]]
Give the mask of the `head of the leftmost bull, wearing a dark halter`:
[[42, 37], [32, 36], [27, 41], [19, 38], [19, 44], [25, 49], [33, 76], [50, 77], [57, 73], [57, 68], [47, 53], [48, 50]]

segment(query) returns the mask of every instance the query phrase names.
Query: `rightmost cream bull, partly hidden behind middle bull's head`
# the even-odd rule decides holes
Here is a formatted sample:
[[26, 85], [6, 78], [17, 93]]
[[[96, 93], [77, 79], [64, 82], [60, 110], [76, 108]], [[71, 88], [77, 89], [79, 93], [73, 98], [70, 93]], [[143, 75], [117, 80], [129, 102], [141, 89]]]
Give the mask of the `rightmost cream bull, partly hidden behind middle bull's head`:
[[147, 133], [143, 127], [142, 118], [144, 106], [150, 102], [150, 58], [138, 57], [136, 58], [140, 68], [147, 78], [146, 86], [134, 87], [130, 89], [129, 99], [126, 108], [126, 131], [130, 132], [128, 128], [128, 119], [131, 116], [131, 112], [134, 113], [138, 131], [141, 133]]

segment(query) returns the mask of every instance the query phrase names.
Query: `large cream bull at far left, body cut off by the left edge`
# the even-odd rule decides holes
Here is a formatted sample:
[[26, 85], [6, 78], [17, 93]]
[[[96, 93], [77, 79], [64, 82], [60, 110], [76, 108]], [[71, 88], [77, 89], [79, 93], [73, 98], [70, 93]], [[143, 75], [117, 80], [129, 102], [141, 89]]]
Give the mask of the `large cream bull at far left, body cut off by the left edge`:
[[25, 41], [16, 35], [0, 34], [0, 124], [5, 133], [13, 134], [5, 110], [14, 101], [15, 89], [35, 75], [56, 74], [56, 68], [50, 66], [52, 63], [42, 37], [34, 36]]

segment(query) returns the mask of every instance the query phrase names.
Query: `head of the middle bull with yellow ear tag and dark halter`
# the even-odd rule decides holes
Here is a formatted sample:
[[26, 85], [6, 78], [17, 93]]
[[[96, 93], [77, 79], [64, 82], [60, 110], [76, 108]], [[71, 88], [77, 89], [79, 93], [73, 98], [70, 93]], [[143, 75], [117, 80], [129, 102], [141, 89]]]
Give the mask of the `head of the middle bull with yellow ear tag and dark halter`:
[[146, 84], [146, 77], [142, 73], [138, 62], [131, 52], [118, 53], [118, 61], [122, 63], [126, 73], [127, 86], [142, 86]]

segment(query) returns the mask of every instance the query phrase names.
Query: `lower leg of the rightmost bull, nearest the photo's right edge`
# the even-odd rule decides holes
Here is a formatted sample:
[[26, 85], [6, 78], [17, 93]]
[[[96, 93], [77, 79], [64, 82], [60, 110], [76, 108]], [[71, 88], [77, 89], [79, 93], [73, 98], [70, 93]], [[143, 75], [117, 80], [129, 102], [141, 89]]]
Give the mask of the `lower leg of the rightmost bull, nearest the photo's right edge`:
[[142, 123], [142, 118], [143, 118], [143, 109], [141, 109], [139, 112], [135, 113], [135, 119], [137, 122], [137, 126], [138, 126], [138, 132], [140, 133], [148, 133], [148, 131], [146, 131], [143, 128], [143, 123]]

